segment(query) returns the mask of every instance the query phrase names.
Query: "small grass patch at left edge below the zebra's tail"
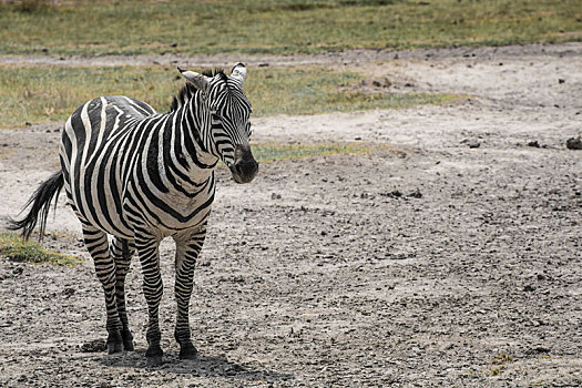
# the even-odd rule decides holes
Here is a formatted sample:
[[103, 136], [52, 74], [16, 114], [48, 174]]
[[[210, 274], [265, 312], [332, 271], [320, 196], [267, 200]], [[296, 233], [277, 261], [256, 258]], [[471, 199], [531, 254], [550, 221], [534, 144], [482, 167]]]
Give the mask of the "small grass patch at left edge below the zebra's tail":
[[17, 234], [7, 232], [0, 233], [0, 256], [12, 262], [49, 263], [69, 267], [81, 263], [80, 257], [45, 249], [37, 242], [24, 241]]

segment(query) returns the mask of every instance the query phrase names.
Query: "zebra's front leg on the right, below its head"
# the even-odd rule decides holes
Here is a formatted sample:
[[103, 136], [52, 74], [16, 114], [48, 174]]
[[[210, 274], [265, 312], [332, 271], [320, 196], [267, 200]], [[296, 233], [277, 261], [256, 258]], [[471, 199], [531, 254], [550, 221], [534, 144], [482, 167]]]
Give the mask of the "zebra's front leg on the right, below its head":
[[174, 293], [177, 303], [176, 328], [174, 338], [180, 344], [180, 358], [195, 359], [196, 348], [192, 344], [190, 333], [190, 297], [194, 285], [194, 266], [196, 258], [204, 244], [206, 236], [205, 225], [187, 238], [175, 238], [176, 241], [176, 279]]

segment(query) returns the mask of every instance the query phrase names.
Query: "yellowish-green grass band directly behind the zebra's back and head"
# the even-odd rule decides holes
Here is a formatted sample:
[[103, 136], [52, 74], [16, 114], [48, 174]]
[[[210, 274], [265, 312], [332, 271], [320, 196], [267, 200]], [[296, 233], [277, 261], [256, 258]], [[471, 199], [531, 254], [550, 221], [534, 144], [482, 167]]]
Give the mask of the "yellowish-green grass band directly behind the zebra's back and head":
[[[459, 99], [451, 94], [368, 93], [358, 86], [363, 80], [360, 73], [323, 68], [254, 68], [248, 71], [245, 90], [254, 116], [399, 109]], [[183, 84], [177, 71], [167, 67], [0, 65], [0, 127], [64, 122], [76, 108], [101, 95], [132, 96], [166, 112]]]

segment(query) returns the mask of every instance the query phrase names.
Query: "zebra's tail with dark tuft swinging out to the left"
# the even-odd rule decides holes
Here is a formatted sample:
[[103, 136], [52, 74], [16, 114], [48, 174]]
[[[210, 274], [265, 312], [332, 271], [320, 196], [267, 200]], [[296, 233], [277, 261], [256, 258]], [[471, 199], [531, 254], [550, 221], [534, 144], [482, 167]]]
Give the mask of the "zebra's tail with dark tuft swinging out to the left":
[[57, 208], [57, 200], [59, 198], [59, 193], [63, 185], [64, 177], [62, 171], [54, 173], [51, 177], [44, 181], [22, 208], [24, 211], [32, 204], [27, 216], [22, 219], [9, 219], [8, 228], [10, 231], [21, 231], [20, 233], [22, 237], [28, 239], [34, 229], [34, 226], [37, 226], [40, 221], [39, 239], [42, 238], [44, 227], [47, 226], [47, 215], [51, 207], [51, 201], [55, 197], [54, 207]]

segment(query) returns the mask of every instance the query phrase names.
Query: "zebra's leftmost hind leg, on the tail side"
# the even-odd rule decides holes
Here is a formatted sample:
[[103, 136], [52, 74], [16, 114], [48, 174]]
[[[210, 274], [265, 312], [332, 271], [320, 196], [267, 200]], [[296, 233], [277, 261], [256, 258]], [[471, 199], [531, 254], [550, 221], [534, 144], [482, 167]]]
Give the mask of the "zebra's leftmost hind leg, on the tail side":
[[96, 276], [105, 294], [105, 307], [108, 310], [108, 351], [109, 354], [119, 353], [123, 350], [123, 339], [121, 337], [123, 325], [118, 313], [115, 262], [110, 255], [108, 235], [96, 227], [83, 224], [83, 237], [86, 248], [93, 258]]

